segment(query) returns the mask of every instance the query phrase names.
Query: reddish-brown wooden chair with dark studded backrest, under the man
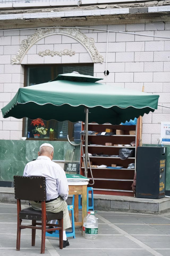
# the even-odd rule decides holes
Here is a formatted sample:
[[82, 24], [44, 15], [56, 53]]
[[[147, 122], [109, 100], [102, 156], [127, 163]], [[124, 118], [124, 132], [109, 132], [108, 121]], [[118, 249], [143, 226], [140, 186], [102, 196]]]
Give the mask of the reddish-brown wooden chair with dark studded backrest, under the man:
[[[35, 246], [36, 229], [42, 230], [41, 236], [41, 253], [45, 252], [45, 232], [59, 230], [60, 249], [63, 249], [63, 211], [59, 213], [46, 212], [46, 186], [45, 177], [32, 176], [14, 176], [15, 199], [17, 199], [17, 239], [16, 250], [20, 250], [21, 229], [32, 229], [32, 246]], [[40, 201], [41, 210], [34, 210], [31, 207], [21, 210], [21, 201]], [[22, 219], [32, 220], [32, 225], [21, 225]], [[46, 229], [49, 221], [57, 219], [58, 225], [54, 228]], [[37, 222], [41, 221], [41, 223]], [[48, 224], [47, 224], [48, 223]], [[41, 227], [37, 227], [41, 226]]]

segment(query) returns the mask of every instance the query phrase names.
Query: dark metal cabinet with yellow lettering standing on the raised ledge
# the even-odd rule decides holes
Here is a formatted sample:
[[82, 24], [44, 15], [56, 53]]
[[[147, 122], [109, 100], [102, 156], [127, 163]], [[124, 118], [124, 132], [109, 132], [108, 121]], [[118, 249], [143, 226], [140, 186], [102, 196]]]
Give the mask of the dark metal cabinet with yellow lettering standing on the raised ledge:
[[137, 147], [136, 197], [165, 196], [166, 147]]

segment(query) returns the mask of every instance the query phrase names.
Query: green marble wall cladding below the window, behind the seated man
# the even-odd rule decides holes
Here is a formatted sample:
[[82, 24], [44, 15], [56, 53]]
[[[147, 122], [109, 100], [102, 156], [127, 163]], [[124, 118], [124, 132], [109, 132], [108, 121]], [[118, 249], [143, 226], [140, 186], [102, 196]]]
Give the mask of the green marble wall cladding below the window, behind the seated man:
[[[71, 160], [74, 146], [67, 141], [45, 141], [54, 147], [55, 160]], [[23, 175], [25, 165], [36, 159], [43, 141], [0, 140], [0, 181], [13, 181]], [[80, 146], [75, 147], [73, 160], [80, 159]], [[68, 153], [69, 152], [69, 153]]]

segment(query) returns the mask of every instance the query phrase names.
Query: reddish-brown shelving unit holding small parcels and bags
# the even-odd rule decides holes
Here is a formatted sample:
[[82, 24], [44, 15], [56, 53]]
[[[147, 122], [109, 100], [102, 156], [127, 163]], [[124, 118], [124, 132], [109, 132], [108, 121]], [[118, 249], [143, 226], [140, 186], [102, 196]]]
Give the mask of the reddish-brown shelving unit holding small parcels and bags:
[[[111, 132], [114, 134], [111, 136], [108, 134], [103, 135], [106, 129], [111, 129]], [[84, 123], [82, 123], [82, 131], [83, 130]], [[131, 185], [133, 183], [136, 166], [137, 125], [111, 125], [109, 123], [99, 125], [97, 123], [89, 123], [88, 130], [95, 133], [88, 134], [88, 153], [90, 154], [89, 158], [92, 162], [91, 169], [95, 181], [93, 185], [94, 193], [134, 196]], [[119, 130], [120, 133], [123, 130], [124, 134], [116, 134], [116, 130]], [[102, 135], [96, 135], [101, 132]], [[133, 133], [133, 135], [130, 133]], [[119, 156], [119, 150], [124, 150], [125, 148], [133, 149], [134, 155], [122, 160]], [[80, 174], [84, 175], [82, 155], [83, 153], [81, 151]], [[111, 157], [111, 155], [113, 156]], [[131, 169], [128, 168], [130, 164], [133, 164]], [[117, 168], [113, 167], [112, 169], [112, 166], [117, 166]], [[88, 178], [91, 180], [89, 167], [87, 171]]]

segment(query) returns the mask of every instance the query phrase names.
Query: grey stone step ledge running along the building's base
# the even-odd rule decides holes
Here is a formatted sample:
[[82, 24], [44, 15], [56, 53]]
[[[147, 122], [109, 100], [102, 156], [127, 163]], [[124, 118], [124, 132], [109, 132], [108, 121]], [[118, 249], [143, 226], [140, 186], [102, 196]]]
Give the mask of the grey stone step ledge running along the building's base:
[[[16, 203], [14, 188], [0, 187], [0, 202]], [[28, 201], [22, 201], [22, 203], [28, 203]], [[67, 203], [69, 205], [72, 203], [71, 195], [68, 197]], [[113, 195], [94, 195], [94, 209], [101, 211], [161, 214], [170, 209], [170, 198], [145, 199]]]

